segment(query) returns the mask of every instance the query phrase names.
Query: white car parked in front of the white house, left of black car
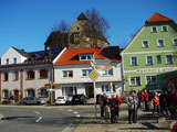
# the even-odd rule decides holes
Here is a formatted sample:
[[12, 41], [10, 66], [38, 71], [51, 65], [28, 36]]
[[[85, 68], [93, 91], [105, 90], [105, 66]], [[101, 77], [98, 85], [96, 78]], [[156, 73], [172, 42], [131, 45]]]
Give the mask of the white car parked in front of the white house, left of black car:
[[55, 100], [55, 105], [71, 105], [72, 97], [62, 96], [58, 97]]

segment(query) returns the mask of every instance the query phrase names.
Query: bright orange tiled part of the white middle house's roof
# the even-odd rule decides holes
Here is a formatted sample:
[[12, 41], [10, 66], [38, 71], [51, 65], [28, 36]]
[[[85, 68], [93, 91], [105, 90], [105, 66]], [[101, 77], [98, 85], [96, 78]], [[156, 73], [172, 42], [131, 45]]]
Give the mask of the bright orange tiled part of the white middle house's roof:
[[[74, 65], [74, 64], [90, 64], [91, 61], [80, 61], [81, 54], [94, 54], [95, 58], [106, 58], [101, 54], [102, 48], [88, 47], [88, 48], [71, 48], [65, 50], [59, 57], [54, 65]], [[119, 59], [112, 59], [112, 62], [121, 62]]]

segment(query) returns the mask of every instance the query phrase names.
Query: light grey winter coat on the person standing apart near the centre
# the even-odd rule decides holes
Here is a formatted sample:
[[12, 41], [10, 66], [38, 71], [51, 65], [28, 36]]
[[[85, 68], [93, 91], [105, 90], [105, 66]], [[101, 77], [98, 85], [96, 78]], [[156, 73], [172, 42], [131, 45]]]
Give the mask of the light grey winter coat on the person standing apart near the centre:
[[127, 105], [128, 105], [128, 110], [135, 110], [137, 109], [137, 105], [138, 105], [138, 98], [136, 95], [129, 95], [126, 98]]

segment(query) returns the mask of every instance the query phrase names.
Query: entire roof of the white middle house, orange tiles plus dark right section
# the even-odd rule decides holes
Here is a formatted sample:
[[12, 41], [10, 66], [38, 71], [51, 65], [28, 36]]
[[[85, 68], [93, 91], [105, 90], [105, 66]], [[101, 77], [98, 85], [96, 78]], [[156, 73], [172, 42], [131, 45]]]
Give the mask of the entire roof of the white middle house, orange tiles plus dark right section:
[[[65, 50], [61, 57], [54, 63], [54, 65], [76, 65], [76, 64], [90, 64], [91, 61], [80, 61], [79, 56], [82, 54], [94, 54], [95, 58], [110, 58], [112, 62], [121, 62], [116, 55], [119, 54], [119, 48], [111, 50], [111, 48], [96, 48], [96, 47], [88, 47], [88, 48], [70, 48]], [[113, 53], [113, 51], [116, 51]], [[113, 56], [108, 56], [108, 54], [113, 54]]]

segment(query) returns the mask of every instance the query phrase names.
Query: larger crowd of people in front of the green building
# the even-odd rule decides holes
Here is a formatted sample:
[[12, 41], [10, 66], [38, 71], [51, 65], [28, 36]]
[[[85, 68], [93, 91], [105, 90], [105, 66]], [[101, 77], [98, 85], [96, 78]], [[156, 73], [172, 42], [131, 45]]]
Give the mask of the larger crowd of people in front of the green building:
[[138, 109], [153, 110], [153, 114], [157, 112], [158, 116], [177, 116], [177, 89], [170, 92], [163, 89], [160, 95], [152, 90], [137, 91], [132, 89], [126, 101], [129, 123], [136, 123]]

